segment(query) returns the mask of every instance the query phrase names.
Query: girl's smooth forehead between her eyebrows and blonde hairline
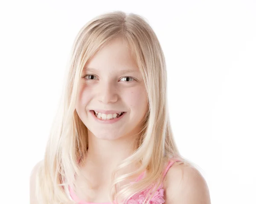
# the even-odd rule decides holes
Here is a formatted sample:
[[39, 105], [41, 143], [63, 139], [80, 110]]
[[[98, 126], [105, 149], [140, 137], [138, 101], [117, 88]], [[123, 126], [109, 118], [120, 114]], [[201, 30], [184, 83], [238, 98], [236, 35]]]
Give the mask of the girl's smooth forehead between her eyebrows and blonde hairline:
[[124, 70], [139, 71], [128, 43], [119, 38], [111, 40], [88, 60], [84, 71], [93, 69], [114, 69], [120, 72], [124, 72]]

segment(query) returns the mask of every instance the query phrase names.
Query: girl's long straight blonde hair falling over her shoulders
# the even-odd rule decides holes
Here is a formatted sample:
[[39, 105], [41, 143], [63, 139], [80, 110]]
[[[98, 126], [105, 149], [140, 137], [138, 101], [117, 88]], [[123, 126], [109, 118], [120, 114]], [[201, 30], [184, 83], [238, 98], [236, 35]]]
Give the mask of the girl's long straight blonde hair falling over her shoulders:
[[[122, 11], [105, 13], [84, 25], [73, 44], [58, 112], [36, 179], [37, 197], [42, 204], [75, 203], [67, 195], [68, 185], [74, 186], [75, 175], [79, 174], [77, 161], [83, 160], [88, 147], [87, 127], [76, 112], [79, 80], [90, 57], [116, 37], [128, 42], [143, 75], [148, 112], [138, 135], [137, 150], [122, 161], [116, 172], [133, 163], [140, 163], [141, 166], [117, 178], [113, 174], [109, 193], [111, 202], [119, 196], [126, 200], [151, 184], [160, 185], [163, 169], [170, 158], [179, 158], [181, 163], [191, 164], [178, 152], [172, 135], [166, 95], [166, 64], [156, 34], [146, 20], [137, 14], [125, 14]], [[147, 173], [142, 180], [132, 186], [127, 184], [116, 192], [119, 182], [139, 175], [144, 170]], [[149, 193], [153, 195], [154, 192]]]

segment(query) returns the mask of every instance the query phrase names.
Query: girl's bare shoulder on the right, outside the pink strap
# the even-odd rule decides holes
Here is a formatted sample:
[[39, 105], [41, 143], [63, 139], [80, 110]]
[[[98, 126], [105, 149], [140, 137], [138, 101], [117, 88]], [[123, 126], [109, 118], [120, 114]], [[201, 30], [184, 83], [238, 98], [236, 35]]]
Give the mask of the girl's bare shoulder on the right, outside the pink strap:
[[164, 184], [165, 204], [211, 204], [207, 183], [195, 167], [174, 164]]

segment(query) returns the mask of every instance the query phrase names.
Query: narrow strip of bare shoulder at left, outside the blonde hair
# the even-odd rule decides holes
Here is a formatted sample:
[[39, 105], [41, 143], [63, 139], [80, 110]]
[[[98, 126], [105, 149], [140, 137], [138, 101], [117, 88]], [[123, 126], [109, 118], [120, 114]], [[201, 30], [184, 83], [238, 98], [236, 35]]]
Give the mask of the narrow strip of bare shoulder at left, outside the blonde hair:
[[44, 160], [39, 161], [35, 166], [32, 168], [32, 171], [30, 173], [30, 180], [29, 180], [29, 194], [30, 194], [30, 204], [38, 204], [36, 195], [35, 195], [35, 187], [36, 187], [36, 176], [38, 174], [38, 171], [40, 170], [40, 167], [42, 166]]

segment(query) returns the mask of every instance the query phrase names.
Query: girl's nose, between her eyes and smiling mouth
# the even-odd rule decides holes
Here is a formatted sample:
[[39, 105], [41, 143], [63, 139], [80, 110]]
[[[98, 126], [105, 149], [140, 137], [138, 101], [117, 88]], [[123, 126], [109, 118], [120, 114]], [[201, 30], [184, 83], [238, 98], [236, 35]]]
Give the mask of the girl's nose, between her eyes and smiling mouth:
[[117, 89], [110, 81], [99, 86], [99, 101], [113, 103], [117, 101], [117, 98]]

